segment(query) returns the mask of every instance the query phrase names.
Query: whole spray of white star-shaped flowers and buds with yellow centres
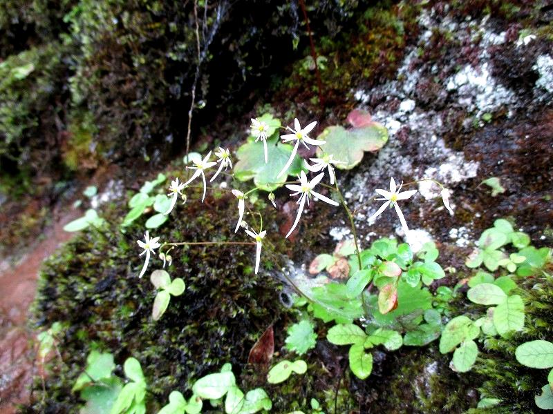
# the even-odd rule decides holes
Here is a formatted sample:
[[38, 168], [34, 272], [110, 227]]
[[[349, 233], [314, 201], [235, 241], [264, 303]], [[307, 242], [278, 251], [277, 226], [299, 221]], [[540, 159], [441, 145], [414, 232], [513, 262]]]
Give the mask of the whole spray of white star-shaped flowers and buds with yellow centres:
[[[301, 128], [301, 124], [299, 124], [298, 119], [294, 119], [294, 128], [290, 128], [290, 126], [286, 127], [286, 130], [292, 133], [281, 135], [281, 139], [283, 143], [290, 143], [292, 141], [295, 141], [295, 144], [292, 149], [290, 159], [286, 161], [286, 164], [279, 172], [278, 177], [288, 172], [288, 168], [290, 168], [290, 166], [292, 165], [292, 162], [294, 161], [294, 157], [296, 157], [297, 150], [299, 148], [300, 143], [306, 146], [306, 148], [309, 148], [308, 144], [312, 146], [322, 146], [326, 144], [325, 141], [311, 139], [310, 137], [308, 137], [308, 134], [315, 128], [316, 125], [317, 125], [317, 121], [313, 121], [310, 124], [308, 124], [306, 127]], [[256, 142], [259, 140], [263, 141], [265, 163], [267, 163], [268, 162], [267, 139], [268, 139], [269, 127], [267, 124], [265, 124], [265, 122], [259, 121], [259, 119], [252, 119], [251, 128], [252, 128], [251, 130], [252, 135], [256, 138]], [[203, 195], [202, 195], [201, 201], [202, 202], [204, 201], [206, 191], [207, 191], [207, 182], [205, 178], [206, 170], [219, 164], [218, 169], [216, 170], [215, 174], [211, 177], [211, 179], [209, 179], [209, 182], [214, 181], [214, 179], [216, 179], [216, 177], [218, 177], [218, 175], [223, 171], [223, 168], [225, 169], [225, 171], [228, 170], [229, 168], [232, 170], [232, 159], [230, 156], [230, 151], [228, 149], [219, 147], [218, 151], [215, 152], [215, 155], [217, 157], [216, 161], [209, 160], [211, 155], [212, 155], [212, 151], [209, 151], [203, 159], [198, 159], [194, 162], [193, 166], [187, 167], [195, 171], [194, 171], [194, 174], [186, 182], [182, 183], [179, 181], [178, 178], [171, 181], [171, 186], [169, 186], [169, 193], [167, 194], [167, 197], [171, 197], [171, 205], [168, 208], [168, 210], [164, 213], [165, 215], [168, 215], [174, 209], [174, 206], [179, 196], [182, 197], [182, 199], [184, 200], [186, 199], [186, 195], [183, 194], [182, 191], [185, 190], [185, 188], [198, 177], [202, 177]], [[306, 203], [309, 206], [311, 197], [315, 201], [317, 200], [324, 201], [326, 204], [330, 204], [332, 206], [339, 206], [339, 203], [337, 203], [337, 201], [334, 201], [329, 197], [322, 195], [318, 191], [315, 191], [315, 187], [319, 185], [323, 180], [324, 175], [326, 174], [325, 170], [328, 170], [330, 186], [326, 184], [321, 184], [321, 186], [326, 185], [327, 187], [332, 188], [331, 186], [335, 185], [337, 181], [334, 166], [337, 166], [339, 164], [346, 164], [346, 163], [343, 161], [334, 159], [332, 154], [323, 155], [320, 158], [310, 158], [310, 161], [312, 164], [309, 164], [308, 161], [304, 160], [305, 168], [310, 172], [319, 172], [319, 174], [317, 174], [315, 177], [309, 180], [308, 176], [306, 175], [306, 172], [304, 170], [301, 170], [298, 176], [298, 184], [285, 185], [286, 188], [288, 188], [288, 190], [291, 190], [293, 192], [290, 194], [290, 197], [299, 195], [299, 199], [297, 199], [297, 204], [299, 204], [297, 215], [296, 215], [296, 218], [294, 219], [294, 223], [290, 227], [290, 230], [288, 230], [288, 233], [285, 235], [285, 238], [288, 238], [292, 234], [292, 232], [297, 228], [299, 224], [299, 220], [301, 219], [301, 214], [303, 213]], [[377, 200], [384, 201], [384, 204], [382, 204], [382, 206], [378, 208], [376, 213], [374, 213], [373, 215], [371, 215], [371, 217], [368, 218], [368, 221], [369, 221], [369, 224], [372, 223], [372, 221], [374, 221], [376, 217], [381, 215], [388, 206], [390, 208], [394, 208], [395, 213], [397, 213], [397, 217], [400, 219], [400, 224], [404, 230], [406, 240], [409, 244], [411, 244], [412, 240], [411, 240], [411, 235], [409, 233], [409, 227], [407, 226], [405, 217], [402, 213], [402, 210], [400, 209], [400, 206], [397, 204], [397, 201], [403, 201], [403, 200], [409, 199], [415, 193], [417, 193], [417, 190], [401, 191], [403, 185], [404, 184], [402, 182], [399, 186], [397, 186], [395, 184], [395, 180], [391, 178], [389, 190], [377, 188], [376, 193], [382, 196], [382, 198], [377, 198]], [[259, 262], [261, 261], [261, 250], [263, 248], [263, 238], [267, 234], [267, 231], [263, 230], [263, 228], [260, 228], [259, 233], [256, 233], [256, 231], [251, 229], [250, 226], [248, 226], [247, 223], [244, 221], [244, 215], [246, 210], [247, 195], [252, 193], [254, 190], [258, 190], [258, 189], [259, 188], [253, 188], [252, 190], [246, 193], [243, 193], [241, 190], [238, 190], [236, 188], [231, 189], [232, 194], [236, 197], [236, 199], [238, 199], [238, 221], [236, 221], [236, 227], [234, 228], [234, 233], [238, 232], [238, 228], [242, 227], [245, 233], [255, 240], [255, 244], [256, 244], [255, 273], [259, 271]], [[444, 206], [447, 208], [447, 210], [449, 210], [449, 213], [453, 215], [453, 210], [449, 205], [449, 190], [447, 190], [447, 188], [442, 188], [441, 196], [442, 196]], [[274, 198], [275, 198], [274, 194], [270, 193], [268, 198], [270, 202], [273, 204], [273, 206], [276, 207], [276, 204], [274, 203]], [[345, 204], [344, 204], [344, 207], [345, 207]], [[140, 255], [146, 254], [146, 260], [144, 261], [144, 265], [142, 266], [142, 270], [140, 271], [139, 277], [142, 277], [142, 275], [144, 275], [144, 273], [146, 272], [151, 253], [155, 253], [154, 249], [159, 248], [161, 246], [158, 240], [159, 240], [159, 237], [153, 237], [150, 239], [149, 233], [146, 232], [144, 235], [144, 242], [140, 240], [138, 241], [138, 245], [142, 249], [144, 249], [142, 253], [140, 253]], [[165, 260], [166, 260], [165, 255], [163, 253], [160, 253], [160, 257], [162, 257], [162, 259], [164, 260], [164, 266], [165, 266]]]

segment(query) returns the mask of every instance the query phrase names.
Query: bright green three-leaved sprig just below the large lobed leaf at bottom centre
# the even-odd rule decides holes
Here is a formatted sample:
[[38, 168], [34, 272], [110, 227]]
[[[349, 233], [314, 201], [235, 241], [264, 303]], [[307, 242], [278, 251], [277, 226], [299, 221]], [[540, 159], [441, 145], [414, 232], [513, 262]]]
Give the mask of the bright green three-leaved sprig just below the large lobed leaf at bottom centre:
[[337, 324], [328, 330], [328, 342], [335, 345], [350, 345], [348, 359], [351, 371], [361, 380], [373, 371], [373, 355], [367, 349], [383, 345], [388, 351], [395, 351], [403, 344], [402, 335], [390, 329], [378, 328], [367, 335], [355, 324]]

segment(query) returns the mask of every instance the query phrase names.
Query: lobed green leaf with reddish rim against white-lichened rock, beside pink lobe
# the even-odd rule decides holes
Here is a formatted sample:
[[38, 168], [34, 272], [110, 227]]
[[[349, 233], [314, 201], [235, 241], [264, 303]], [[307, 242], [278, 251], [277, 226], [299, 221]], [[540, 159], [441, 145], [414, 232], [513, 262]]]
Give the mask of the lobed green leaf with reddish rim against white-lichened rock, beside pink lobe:
[[340, 170], [350, 170], [363, 159], [365, 151], [375, 152], [388, 141], [388, 131], [380, 124], [351, 128], [329, 126], [317, 137], [326, 144], [317, 148], [317, 156], [333, 155], [334, 159], [346, 164], [338, 164]]

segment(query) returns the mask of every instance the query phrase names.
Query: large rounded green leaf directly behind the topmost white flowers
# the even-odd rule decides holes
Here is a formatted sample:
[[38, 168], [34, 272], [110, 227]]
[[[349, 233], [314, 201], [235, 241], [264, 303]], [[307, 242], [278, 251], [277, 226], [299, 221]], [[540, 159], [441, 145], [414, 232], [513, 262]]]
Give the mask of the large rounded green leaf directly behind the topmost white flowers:
[[[279, 135], [267, 139], [268, 162], [265, 163], [263, 142], [250, 141], [238, 148], [236, 157], [238, 162], [234, 166], [234, 175], [239, 181], [254, 179], [254, 184], [266, 191], [272, 191], [282, 186], [288, 175], [297, 175], [301, 171], [301, 158], [296, 155], [292, 165], [288, 168], [288, 175], [277, 178], [292, 155], [293, 147], [279, 142]], [[278, 145], [277, 145], [278, 143]]]

